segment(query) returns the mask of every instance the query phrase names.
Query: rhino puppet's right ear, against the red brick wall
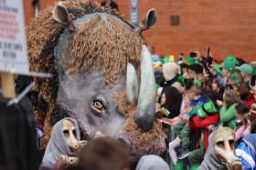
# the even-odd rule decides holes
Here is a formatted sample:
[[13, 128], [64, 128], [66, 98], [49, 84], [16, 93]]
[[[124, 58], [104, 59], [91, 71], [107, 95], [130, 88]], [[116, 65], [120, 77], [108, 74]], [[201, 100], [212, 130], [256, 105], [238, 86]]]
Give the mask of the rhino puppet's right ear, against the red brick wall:
[[134, 28], [135, 32], [141, 33], [144, 30], [151, 29], [155, 26], [157, 14], [155, 9], [150, 9], [147, 15], [140, 21], [139, 25]]

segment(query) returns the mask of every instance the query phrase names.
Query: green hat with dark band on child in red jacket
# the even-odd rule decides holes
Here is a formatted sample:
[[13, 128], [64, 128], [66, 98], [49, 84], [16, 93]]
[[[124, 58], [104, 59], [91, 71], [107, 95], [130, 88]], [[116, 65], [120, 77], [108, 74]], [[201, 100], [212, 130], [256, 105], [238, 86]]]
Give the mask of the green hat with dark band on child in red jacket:
[[197, 105], [197, 114], [201, 117], [208, 117], [209, 115], [215, 115], [217, 113], [217, 109], [213, 102], [205, 103], [204, 105], [200, 106]]

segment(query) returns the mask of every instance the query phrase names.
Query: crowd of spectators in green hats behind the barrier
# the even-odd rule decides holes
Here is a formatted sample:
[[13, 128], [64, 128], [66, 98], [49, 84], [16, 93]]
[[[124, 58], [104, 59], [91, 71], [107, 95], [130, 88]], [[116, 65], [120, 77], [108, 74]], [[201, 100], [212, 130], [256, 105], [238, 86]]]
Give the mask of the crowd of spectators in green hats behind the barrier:
[[[179, 61], [169, 55], [152, 56], [158, 96], [155, 116], [164, 127], [173, 126], [176, 134], [169, 143], [173, 164], [187, 159], [190, 166], [200, 165], [208, 136], [224, 126], [235, 131], [236, 155], [243, 167], [255, 168], [256, 62], [228, 56], [221, 65], [214, 60], [209, 64], [199, 52], [193, 53], [196, 56], [181, 55]], [[214, 58], [210, 53], [208, 57]], [[192, 131], [199, 132], [196, 150], [189, 147]]]

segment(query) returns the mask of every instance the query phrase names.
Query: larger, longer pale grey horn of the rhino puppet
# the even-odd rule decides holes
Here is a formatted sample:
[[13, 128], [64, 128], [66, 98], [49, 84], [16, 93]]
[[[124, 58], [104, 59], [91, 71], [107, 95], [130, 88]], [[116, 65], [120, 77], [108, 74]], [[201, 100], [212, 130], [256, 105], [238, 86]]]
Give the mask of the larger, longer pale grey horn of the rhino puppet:
[[135, 123], [144, 131], [150, 130], [154, 123], [155, 95], [155, 75], [152, 59], [146, 45], [143, 45], [141, 56], [141, 86]]

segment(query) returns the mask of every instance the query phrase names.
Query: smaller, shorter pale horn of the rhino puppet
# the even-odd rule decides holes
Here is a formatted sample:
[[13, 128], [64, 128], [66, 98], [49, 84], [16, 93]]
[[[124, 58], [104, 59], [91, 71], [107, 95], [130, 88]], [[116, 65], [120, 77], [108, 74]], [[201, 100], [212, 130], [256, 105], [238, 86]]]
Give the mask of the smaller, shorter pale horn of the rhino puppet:
[[126, 98], [129, 104], [132, 104], [134, 99], [138, 99], [138, 86], [135, 69], [132, 64], [128, 63], [126, 71]]

